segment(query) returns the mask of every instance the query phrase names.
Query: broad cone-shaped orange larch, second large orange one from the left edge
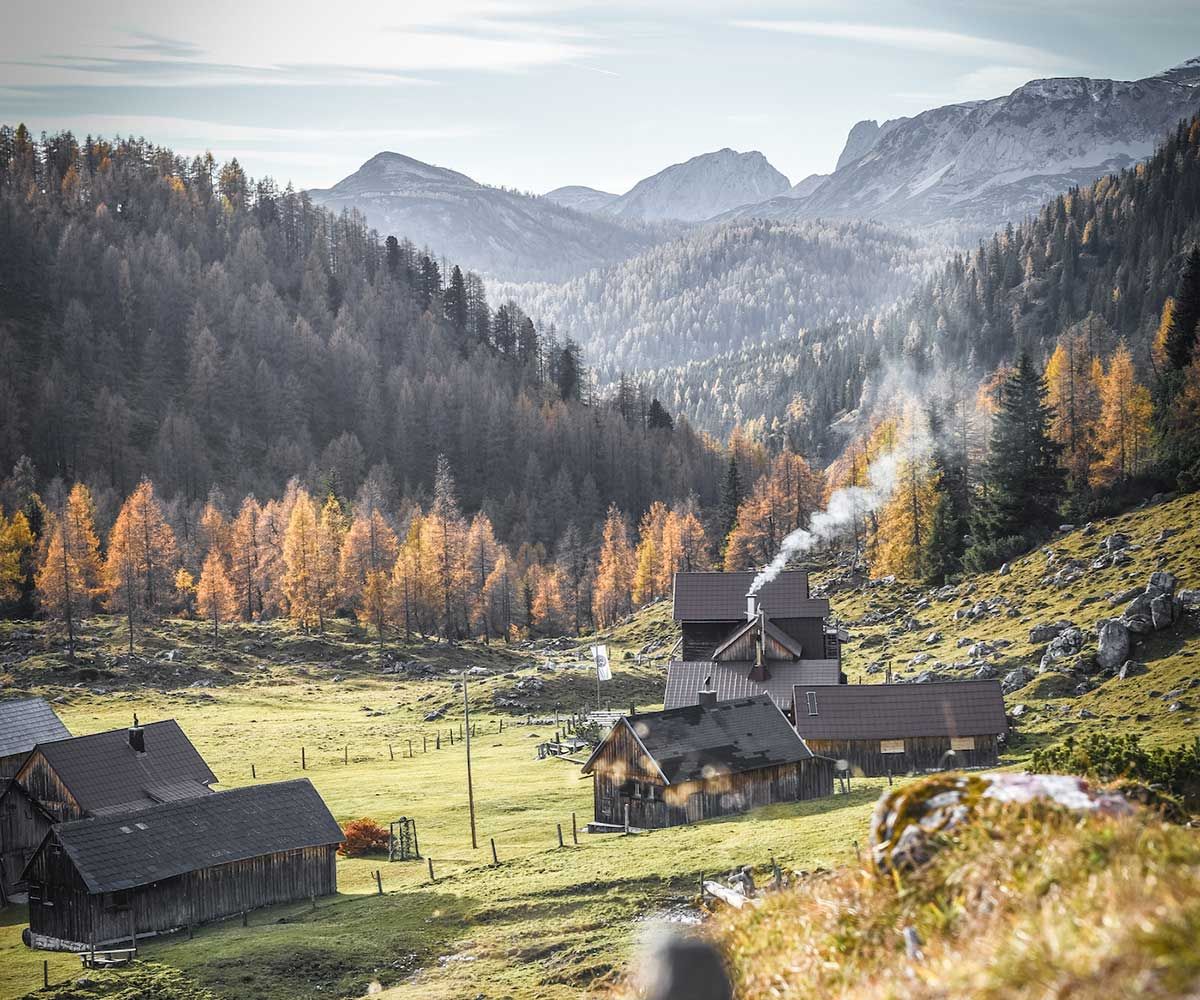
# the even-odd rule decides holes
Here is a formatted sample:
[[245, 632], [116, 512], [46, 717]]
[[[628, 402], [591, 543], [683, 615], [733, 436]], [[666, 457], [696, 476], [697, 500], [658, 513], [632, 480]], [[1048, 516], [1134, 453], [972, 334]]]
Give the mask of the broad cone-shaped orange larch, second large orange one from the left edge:
[[172, 593], [176, 555], [175, 534], [143, 479], [116, 515], [104, 563], [109, 603], [126, 615], [131, 654], [134, 625], [156, 616]]

